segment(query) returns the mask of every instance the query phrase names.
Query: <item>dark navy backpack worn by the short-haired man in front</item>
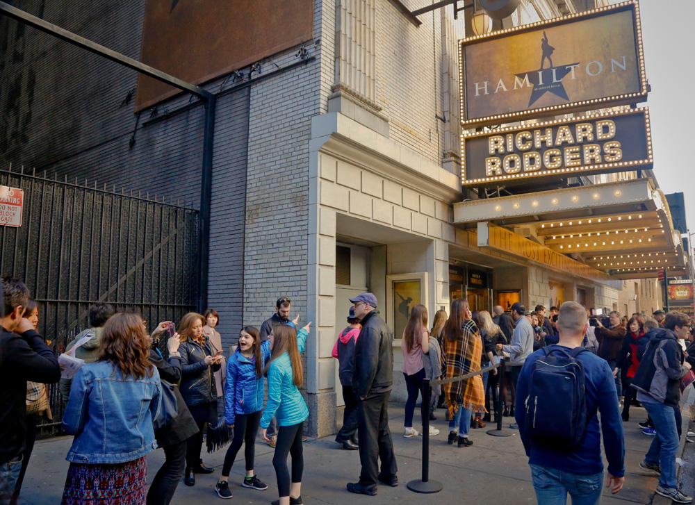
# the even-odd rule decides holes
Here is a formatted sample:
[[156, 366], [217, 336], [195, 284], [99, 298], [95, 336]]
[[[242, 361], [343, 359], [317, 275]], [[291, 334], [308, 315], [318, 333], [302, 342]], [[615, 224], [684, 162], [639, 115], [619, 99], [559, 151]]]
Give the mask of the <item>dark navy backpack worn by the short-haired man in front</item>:
[[534, 442], [557, 448], [577, 445], [587, 428], [584, 365], [578, 354], [584, 347], [551, 345], [531, 368], [525, 403], [525, 431]]

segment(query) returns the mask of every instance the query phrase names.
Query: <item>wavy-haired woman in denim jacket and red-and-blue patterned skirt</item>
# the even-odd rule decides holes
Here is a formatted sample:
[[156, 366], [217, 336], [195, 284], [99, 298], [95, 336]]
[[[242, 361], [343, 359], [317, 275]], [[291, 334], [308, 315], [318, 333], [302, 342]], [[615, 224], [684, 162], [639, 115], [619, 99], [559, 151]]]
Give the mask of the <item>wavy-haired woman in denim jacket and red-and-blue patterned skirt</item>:
[[104, 325], [99, 361], [77, 372], [63, 415], [63, 429], [75, 436], [63, 505], [92, 504], [96, 496], [145, 503], [146, 455], [157, 447], [152, 422], [160, 409], [149, 345], [139, 316], [115, 314]]

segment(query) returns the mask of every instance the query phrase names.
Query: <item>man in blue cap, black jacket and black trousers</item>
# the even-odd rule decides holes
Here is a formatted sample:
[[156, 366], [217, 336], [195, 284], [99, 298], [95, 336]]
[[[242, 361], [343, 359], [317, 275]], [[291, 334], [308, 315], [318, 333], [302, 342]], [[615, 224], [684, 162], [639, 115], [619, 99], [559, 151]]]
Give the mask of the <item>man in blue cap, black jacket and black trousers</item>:
[[[359, 482], [348, 483], [347, 490], [374, 496], [377, 494], [377, 481], [398, 486], [398, 467], [389, 430], [393, 333], [379, 317], [377, 297], [372, 293], [362, 293], [350, 301], [354, 304], [354, 315], [362, 324], [354, 347], [352, 372], [352, 391], [359, 399], [357, 436], [362, 470]], [[382, 460], [380, 473], [379, 458]]]

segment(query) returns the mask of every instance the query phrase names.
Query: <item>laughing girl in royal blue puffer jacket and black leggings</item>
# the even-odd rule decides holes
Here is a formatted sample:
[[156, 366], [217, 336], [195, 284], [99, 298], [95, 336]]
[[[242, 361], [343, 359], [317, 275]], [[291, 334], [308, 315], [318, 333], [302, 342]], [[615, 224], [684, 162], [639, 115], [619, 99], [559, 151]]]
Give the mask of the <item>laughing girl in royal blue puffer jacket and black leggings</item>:
[[227, 361], [227, 383], [224, 386], [224, 421], [234, 427], [234, 438], [224, 456], [222, 478], [215, 485], [220, 498], [232, 497], [229, 490], [229, 472], [241, 444], [246, 442], [245, 488], [268, 489], [254, 475], [256, 433], [263, 413], [263, 363], [270, 356], [271, 340], [261, 344], [261, 332], [254, 326], [245, 326], [239, 333], [236, 352]]

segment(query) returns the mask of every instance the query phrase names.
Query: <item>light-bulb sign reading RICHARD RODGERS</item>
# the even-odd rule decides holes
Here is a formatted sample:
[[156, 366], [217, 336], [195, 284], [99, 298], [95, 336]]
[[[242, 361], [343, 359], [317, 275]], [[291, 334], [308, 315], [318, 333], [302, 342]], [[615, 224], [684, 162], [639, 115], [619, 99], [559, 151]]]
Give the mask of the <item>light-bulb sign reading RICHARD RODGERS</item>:
[[653, 164], [646, 108], [472, 133], [461, 144], [463, 185], [625, 172]]

